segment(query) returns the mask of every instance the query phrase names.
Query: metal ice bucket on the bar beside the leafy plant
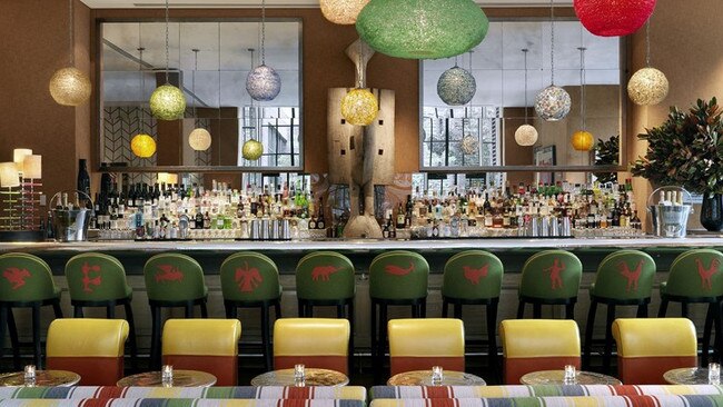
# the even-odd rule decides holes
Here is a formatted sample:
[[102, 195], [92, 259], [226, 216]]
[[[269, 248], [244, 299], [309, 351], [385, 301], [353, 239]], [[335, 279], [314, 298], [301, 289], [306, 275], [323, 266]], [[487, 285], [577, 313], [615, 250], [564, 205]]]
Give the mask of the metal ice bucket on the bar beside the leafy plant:
[[[660, 193], [674, 192], [680, 193], [682, 199], [676, 202], [667, 202], [664, 199], [657, 199], [657, 204], [653, 204]], [[682, 201], [682, 204], [680, 204]], [[681, 238], [685, 237], [687, 232], [687, 217], [693, 212], [693, 204], [691, 193], [680, 187], [662, 187], [651, 193], [647, 198], [647, 211], [651, 215], [653, 232], [655, 236]]]

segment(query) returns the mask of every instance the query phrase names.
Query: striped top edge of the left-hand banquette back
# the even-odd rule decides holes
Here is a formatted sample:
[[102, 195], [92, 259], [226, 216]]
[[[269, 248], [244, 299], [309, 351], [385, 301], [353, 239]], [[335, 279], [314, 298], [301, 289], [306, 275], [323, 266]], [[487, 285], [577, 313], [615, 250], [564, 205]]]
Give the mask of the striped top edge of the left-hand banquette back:
[[86, 398], [202, 398], [202, 399], [348, 399], [366, 401], [366, 388], [344, 387], [0, 387], [0, 399], [86, 399]]

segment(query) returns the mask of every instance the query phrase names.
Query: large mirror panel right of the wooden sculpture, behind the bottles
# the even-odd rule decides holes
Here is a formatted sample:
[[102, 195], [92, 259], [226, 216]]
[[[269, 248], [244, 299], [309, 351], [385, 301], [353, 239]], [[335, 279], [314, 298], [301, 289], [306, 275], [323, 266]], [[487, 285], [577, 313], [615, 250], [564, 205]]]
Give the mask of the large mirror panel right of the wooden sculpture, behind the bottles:
[[[423, 62], [424, 171], [622, 165], [621, 40], [595, 37], [578, 21], [555, 21], [554, 82], [570, 93], [572, 109], [562, 120], [544, 121], [534, 105], [535, 96], [552, 82], [551, 28], [549, 21], [493, 21], [472, 52]], [[462, 106], [447, 105], [449, 97], [443, 100], [437, 87], [455, 64], [476, 81], [474, 97]], [[532, 146], [515, 140], [515, 131], [525, 123], [538, 133]], [[578, 150], [573, 133], [583, 129], [593, 138], [587, 146], [578, 143], [588, 149]]]

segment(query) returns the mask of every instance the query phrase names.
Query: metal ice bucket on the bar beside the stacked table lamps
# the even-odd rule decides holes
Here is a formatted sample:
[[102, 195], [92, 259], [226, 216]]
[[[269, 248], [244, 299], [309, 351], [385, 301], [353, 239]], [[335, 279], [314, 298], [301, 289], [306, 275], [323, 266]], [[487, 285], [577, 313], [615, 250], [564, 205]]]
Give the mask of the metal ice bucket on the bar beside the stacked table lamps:
[[[68, 205], [68, 193], [72, 193], [76, 202]], [[78, 199], [80, 198], [80, 199]], [[88, 205], [89, 204], [89, 205]], [[60, 191], [50, 199], [52, 212], [52, 232], [59, 241], [85, 241], [88, 238], [88, 225], [92, 201], [82, 191]], [[88, 208], [90, 207], [90, 208]]]

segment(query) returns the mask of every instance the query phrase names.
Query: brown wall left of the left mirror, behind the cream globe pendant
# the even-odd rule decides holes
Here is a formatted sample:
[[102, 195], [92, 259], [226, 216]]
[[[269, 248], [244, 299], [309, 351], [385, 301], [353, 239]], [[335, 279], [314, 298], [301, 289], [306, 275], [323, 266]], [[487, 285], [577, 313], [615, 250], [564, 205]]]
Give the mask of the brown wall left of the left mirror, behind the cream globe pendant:
[[[42, 155], [46, 193], [75, 189], [77, 159], [91, 156], [90, 107], [59, 106], [48, 91], [52, 73], [70, 63], [68, 2], [8, 0], [1, 9], [0, 161], [31, 148]], [[88, 72], [90, 10], [78, 0], [75, 10], [76, 66]]]

